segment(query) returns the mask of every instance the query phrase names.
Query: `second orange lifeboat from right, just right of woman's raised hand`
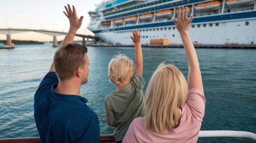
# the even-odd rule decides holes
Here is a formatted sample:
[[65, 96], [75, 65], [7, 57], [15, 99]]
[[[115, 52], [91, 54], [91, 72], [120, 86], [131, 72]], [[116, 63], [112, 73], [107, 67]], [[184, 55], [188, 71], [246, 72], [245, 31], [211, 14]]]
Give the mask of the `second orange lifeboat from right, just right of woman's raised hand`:
[[212, 11], [220, 9], [222, 2], [220, 1], [212, 1], [212, 2], [205, 2], [201, 4], [195, 5], [195, 11]]

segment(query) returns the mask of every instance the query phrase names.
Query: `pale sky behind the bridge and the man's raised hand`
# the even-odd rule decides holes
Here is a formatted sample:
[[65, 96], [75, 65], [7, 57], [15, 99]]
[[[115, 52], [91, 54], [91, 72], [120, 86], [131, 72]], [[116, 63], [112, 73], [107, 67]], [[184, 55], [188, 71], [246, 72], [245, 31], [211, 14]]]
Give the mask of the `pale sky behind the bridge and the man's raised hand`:
[[[70, 4], [76, 8], [78, 18], [83, 16], [83, 22], [77, 34], [94, 35], [87, 29], [90, 22], [88, 11], [94, 11], [96, 4], [103, 0], [1, 0], [0, 29], [43, 29], [49, 31], [67, 32], [69, 20], [63, 13], [64, 6]], [[63, 40], [57, 36], [57, 40]], [[0, 40], [7, 36], [0, 34]], [[11, 34], [12, 40], [35, 40], [40, 42], [53, 41], [53, 36], [37, 32], [22, 32]], [[82, 40], [75, 37], [74, 40]]]

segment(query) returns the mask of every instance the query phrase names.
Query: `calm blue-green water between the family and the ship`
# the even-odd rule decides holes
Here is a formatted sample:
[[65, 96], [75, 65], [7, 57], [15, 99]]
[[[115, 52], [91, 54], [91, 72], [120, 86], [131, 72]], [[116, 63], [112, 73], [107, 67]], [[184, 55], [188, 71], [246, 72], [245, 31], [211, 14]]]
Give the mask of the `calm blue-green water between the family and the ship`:
[[[52, 44], [16, 45], [0, 50], [0, 138], [38, 136], [34, 93], [50, 68], [57, 48]], [[143, 48], [143, 77], [148, 83], [157, 65], [171, 59], [185, 77], [183, 48]], [[256, 50], [196, 49], [202, 70], [206, 110], [201, 130], [242, 130], [256, 133]], [[108, 81], [108, 62], [117, 52], [135, 57], [132, 47], [90, 47], [88, 84], [81, 96], [100, 120], [101, 134], [114, 128], [105, 121], [104, 99], [115, 86]], [[147, 84], [146, 84], [147, 86]], [[146, 90], [144, 87], [144, 91]], [[250, 143], [241, 138], [199, 138], [198, 143]]]

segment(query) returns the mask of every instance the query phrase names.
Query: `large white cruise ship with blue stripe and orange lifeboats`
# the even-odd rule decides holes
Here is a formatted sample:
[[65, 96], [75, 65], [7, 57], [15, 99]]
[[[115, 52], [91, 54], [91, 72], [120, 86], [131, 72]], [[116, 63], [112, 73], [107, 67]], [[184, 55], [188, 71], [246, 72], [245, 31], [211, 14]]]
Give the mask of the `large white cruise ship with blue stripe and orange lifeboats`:
[[137, 29], [143, 45], [179, 45], [179, 6], [193, 15], [193, 44], [256, 44], [256, 0], [105, 0], [88, 12], [87, 28], [107, 44], [131, 45]]

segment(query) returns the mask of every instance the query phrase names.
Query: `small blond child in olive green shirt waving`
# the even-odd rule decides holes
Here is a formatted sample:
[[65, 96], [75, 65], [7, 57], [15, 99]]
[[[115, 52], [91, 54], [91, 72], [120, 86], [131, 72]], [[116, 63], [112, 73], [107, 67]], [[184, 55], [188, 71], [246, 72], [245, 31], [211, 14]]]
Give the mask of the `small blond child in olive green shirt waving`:
[[142, 77], [141, 35], [137, 29], [132, 31], [132, 35], [135, 43], [135, 68], [132, 59], [124, 54], [115, 55], [108, 65], [108, 77], [117, 90], [105, 98], [104, 106], [108, 125], [115, 127], [116, 143], [122, 142], [133, 119], [144, 117], [145, 99], [142, 89], [145, 81]]

